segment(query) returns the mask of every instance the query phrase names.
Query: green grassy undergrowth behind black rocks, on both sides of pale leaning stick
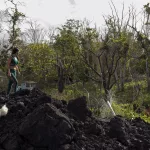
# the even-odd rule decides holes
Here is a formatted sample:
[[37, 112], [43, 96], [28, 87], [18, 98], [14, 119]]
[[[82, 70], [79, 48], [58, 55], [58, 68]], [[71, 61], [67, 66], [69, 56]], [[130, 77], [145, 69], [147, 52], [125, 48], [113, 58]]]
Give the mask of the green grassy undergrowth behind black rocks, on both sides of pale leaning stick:
[[[140, 87], [139, 93], [136, 91], [137, 85]], [[57, 87], [54, 86], [43, 91], [55, 99], [66, 101], [80, 96], [86, 96], [88, 106], [94, 115], [98, 117], [111, 115], [109, 108], [103, 100], [104, 90], [93, 82], [85, 83], [84, 86], [81, 82], [66, 85], [63, 93], [59, 93]], [[116, 87], [114, 87], [113, 94], [114, 101], [112, 107], [117, 115], [128, 119], [140, 117], [150, 123], [150, 117], [144, 113], [145, 106], [150, 106], [150, 93], [146, 90], [145, 80], [126, 83], [123, 92], [116, 92]], [[140, 113], [138, 110], [140, 110]]]

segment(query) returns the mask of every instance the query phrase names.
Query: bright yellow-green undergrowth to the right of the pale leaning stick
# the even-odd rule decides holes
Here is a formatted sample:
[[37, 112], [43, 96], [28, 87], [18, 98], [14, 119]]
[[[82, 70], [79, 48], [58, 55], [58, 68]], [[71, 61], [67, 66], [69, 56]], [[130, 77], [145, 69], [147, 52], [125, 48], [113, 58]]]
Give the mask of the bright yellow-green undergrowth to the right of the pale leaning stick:
[[[136, 86], [139, 85], [140, 93], [136, 93]], [[137, 95], [136, 95], [137, 94]], [[129, 119], [140, 117], [150, 123], [150, 116], [145, 111], [150, 107], [150, 94], [146, 90], [146, 81], [128, 82], [125, 84], [125, 91], [116, 93], [115, 101], [112, 104], [117, 115]]]

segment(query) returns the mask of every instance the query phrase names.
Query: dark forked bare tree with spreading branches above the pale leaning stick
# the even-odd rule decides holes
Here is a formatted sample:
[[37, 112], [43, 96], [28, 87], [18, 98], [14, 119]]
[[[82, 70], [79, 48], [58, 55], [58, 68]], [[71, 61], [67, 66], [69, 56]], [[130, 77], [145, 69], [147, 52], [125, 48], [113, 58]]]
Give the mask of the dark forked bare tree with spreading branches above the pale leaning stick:
[[94, 52], [89, 46], [85, 46], [87, 53], [96, 61], [97, 68], [95, 68], [95, 65], [93, 65], [91, 60], [88, 60], [84, 54], [82, 54], [82, 57], [92, 71], [89, 73], [89, 78], [98, 83], [102, 83], [107, 97], [109, 91], [116, 83], [114, 74], [118, 67], [118, 63], [122, 58], [122, 50], [120, 45], [114, 44], [110, 41], [108, 35], [106, 35], [102, 42], [103, 46], [101, 46], [96, 52]]

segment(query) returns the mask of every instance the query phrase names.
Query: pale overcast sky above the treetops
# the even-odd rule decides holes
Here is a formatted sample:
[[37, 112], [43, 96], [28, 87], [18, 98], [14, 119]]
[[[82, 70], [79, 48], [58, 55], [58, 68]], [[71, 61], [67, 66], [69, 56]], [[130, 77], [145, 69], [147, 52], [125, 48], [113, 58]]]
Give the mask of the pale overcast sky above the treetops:
[[[5, 0], [0, 0], [0, 9], [5, 9]], [[17, 0], [14, 0], [15, 2]], [[102, 15], [111, 13], [109, 6], [110, 0], [19, 0], [24, 2], [24, 6], [20, 11], [26, 16], [42, 22], [44, 25], [60, 25], [66, 19], [84, 19], [96, 23], [101, 26], [104, 21]], [[116, 8], [120, 11], [122, 4], [125, 4], [125, 9], [132, 4], [141, 11], [144, 4], [150, 0], [113, 0]], [[7, 3], [8, 5], [8, 3]]]

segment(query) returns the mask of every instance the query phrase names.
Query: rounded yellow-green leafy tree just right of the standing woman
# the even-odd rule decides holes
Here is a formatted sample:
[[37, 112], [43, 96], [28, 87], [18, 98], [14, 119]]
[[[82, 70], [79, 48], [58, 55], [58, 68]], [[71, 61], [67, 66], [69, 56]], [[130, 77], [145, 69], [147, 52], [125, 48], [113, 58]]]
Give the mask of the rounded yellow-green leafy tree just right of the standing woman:
[[56, 55], [47, 44], [30, 44], [22, 51], [22, 71], [36, 81], [45, 83], [49, 78], [56, 78]]

